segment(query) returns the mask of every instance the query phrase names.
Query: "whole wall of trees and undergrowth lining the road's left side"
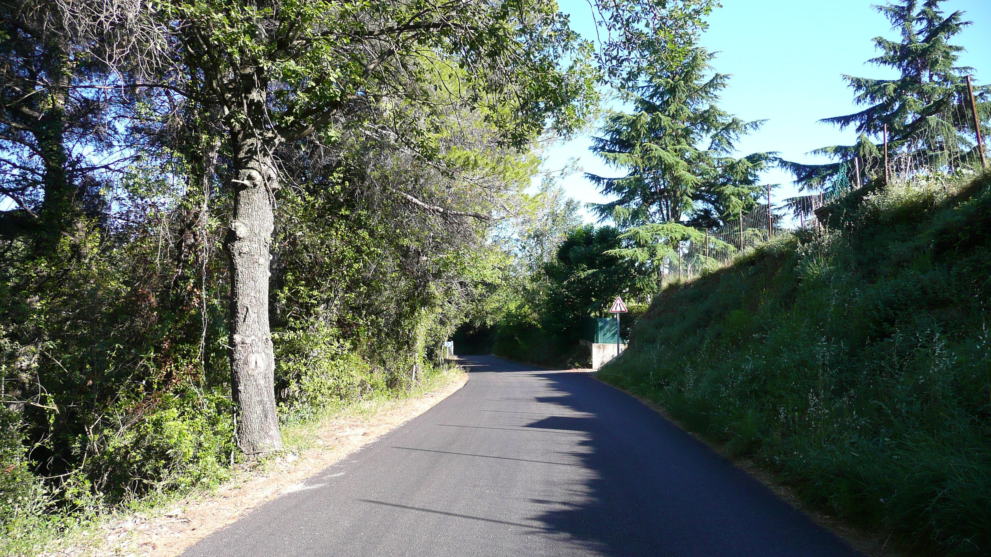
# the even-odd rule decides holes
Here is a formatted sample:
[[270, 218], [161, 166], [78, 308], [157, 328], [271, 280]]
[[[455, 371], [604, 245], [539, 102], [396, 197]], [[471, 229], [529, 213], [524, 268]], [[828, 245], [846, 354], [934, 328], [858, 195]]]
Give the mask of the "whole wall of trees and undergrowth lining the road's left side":
[[[599, 42], [549, 0], [0, 2], [16, 497], [208, 485], [287, 420], [437, 368], [577, 224], [524, 192], [538, 143], [677, 59], [713, 3], [595, 6]], [[496, 242], [509, 221], [533, 257]]]

